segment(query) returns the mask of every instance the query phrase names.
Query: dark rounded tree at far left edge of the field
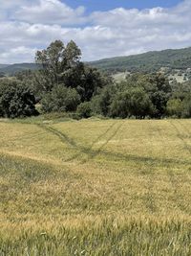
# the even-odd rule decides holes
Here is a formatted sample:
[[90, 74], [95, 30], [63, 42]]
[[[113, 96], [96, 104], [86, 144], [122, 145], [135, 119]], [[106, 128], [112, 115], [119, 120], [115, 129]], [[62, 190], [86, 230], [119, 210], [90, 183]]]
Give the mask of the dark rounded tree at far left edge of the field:
[[32, 90], [16, 80], [3, 80], [0, 83], [0, 116], [27, 117], [36, 115], [35, 98]]

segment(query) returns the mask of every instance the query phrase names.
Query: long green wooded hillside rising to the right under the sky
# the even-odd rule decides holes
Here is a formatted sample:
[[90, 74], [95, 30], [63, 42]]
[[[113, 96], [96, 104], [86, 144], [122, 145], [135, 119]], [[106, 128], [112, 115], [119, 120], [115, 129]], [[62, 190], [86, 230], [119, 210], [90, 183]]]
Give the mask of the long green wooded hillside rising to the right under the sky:
[[161, 67], [185, 70], [191, 68], [191, 47], [154, 51], [128, 57], [105, 58], [92, 61], [90, 64], [109, 72], [155, 72]]

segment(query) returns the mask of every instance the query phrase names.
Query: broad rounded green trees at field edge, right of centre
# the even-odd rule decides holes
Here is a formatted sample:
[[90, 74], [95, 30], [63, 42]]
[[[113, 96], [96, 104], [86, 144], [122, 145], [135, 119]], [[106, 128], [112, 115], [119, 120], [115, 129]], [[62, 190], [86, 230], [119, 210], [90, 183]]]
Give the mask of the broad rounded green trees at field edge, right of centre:
[[169, 82], [161, 74], [135, 74], [115, 85], [104, 87], [93, 98], [93, 110], [104, 116], [160, 118], [172, 95]]

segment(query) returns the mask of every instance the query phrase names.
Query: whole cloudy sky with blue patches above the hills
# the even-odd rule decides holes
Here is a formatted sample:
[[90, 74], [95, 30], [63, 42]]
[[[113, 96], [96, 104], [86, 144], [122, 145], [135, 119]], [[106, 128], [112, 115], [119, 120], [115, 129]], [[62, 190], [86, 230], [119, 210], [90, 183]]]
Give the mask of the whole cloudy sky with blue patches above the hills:
[[55, 39], [82, 59], [191, 46], [191, 0], [0, 0], [0, 63], [33, 62]]

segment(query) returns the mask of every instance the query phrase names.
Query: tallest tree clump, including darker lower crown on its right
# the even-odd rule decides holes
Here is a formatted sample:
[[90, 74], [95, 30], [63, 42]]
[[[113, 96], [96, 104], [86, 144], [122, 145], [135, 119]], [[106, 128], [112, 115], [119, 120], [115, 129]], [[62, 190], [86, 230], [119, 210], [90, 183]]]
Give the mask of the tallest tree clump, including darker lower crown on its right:
[[36, 84], [41, 92], [50, 92], [54, 86], [62, 84], [74, 88], [81, 102], [90, 101], [97, 89], [108, 81], [95, 68], [89, 67], [81, 59], [81, 51], [74, 41], [66, 46], [56, 40], [42, 51], [37, 51], [35, 60], [41, 66], [36, 75]]

